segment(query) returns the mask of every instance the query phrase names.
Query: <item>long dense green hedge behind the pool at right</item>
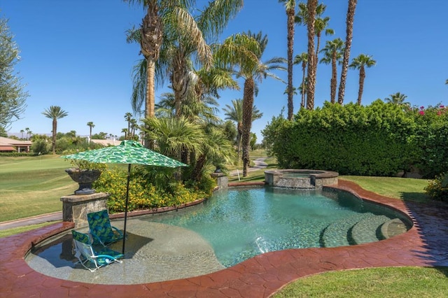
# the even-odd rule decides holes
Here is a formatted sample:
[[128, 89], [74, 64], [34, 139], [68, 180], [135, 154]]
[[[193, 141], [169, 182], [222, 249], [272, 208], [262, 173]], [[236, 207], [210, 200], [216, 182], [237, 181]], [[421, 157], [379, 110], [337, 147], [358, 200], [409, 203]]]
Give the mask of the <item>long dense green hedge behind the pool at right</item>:
[[369, 106], [326, 102], [302, 109], [293, 121], [273, 118], [262, 134], [281, 168], [395, 176], [417, 166], [434, 176], [447, 166], [448, 122], [440, 106], [431, 109], [421, 113], [381, 100]]

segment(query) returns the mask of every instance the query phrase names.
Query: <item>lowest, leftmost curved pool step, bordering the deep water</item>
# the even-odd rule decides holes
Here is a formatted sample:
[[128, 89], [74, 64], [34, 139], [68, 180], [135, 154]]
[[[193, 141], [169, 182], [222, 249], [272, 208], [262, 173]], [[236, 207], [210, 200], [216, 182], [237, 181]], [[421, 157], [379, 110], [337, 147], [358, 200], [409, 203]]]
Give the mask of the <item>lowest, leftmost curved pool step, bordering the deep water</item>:
[[372, 213], [358, 213], [348, 218], [332, 222], [321, 234], [321, 245], [325, 248], [334, 248], [336, 246], [349, 246], [353, 244], [349, 241], [349, 230], [357, 222], [366, 218], [366, 216], [370, 218], [375, 215]]

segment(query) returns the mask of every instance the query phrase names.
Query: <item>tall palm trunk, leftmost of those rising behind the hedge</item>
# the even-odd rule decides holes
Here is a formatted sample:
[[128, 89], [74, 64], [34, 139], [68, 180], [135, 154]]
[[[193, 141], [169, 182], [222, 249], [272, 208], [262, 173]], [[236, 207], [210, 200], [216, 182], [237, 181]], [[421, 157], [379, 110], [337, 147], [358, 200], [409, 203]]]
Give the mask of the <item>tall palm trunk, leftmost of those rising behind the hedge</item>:
[[285, 3], [288, 29], [288, 120], [293, 119], [294, 115], [294, 90], [293, 90], [293, 48], [294, 48], [294, 19], [295, 19], [295, 0], [279, 0]]

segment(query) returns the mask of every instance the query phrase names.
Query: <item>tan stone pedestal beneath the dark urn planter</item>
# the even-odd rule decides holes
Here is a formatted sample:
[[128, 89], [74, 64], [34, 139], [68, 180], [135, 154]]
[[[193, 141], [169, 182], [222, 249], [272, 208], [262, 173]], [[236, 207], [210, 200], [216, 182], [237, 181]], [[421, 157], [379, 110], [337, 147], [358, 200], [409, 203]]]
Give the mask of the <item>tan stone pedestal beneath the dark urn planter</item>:
[[106, 202], [111, 195], [106, 192], [95, 194], [71, 194], [61, 197], [62, 220], [74, 222], [75, 228], [88, 225], [87, 213], [106, 209]]

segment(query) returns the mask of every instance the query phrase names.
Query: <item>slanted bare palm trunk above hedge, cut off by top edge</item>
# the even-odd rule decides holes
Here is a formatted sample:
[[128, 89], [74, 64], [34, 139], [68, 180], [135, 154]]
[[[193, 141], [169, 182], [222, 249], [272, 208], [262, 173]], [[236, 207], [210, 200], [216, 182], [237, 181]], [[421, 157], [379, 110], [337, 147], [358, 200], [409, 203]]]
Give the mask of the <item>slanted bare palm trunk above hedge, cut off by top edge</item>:
[[358, 0], [349, 0], [349, 8], [347, 10], [344, 58], [342, 59], [341, 79], [339, 80], [339, 92], [337, 94], [337, 102], [339, 104], [344, 104], [345, 82], [349, 69], [351, 38], [353, 38], [353, 20], [355, 18], [357, 2]]

